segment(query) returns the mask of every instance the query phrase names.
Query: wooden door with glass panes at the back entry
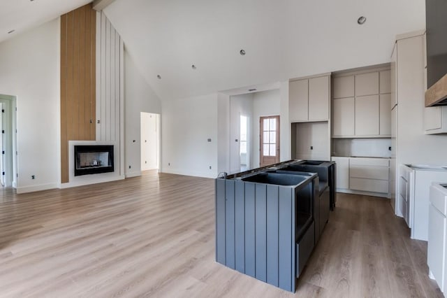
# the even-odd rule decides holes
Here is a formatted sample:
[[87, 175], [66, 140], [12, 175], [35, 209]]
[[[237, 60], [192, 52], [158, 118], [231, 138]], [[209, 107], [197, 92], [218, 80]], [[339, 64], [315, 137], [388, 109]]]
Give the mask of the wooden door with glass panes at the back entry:
[[259, 119], [260, 166], [279, 162], [279, 116], [261, 117]]

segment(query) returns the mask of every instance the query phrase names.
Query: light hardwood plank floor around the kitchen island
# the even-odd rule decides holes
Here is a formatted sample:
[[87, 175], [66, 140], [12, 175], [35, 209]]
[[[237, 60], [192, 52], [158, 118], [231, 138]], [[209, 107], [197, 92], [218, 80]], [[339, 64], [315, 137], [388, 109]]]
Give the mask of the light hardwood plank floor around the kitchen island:
[[442, 297], [386, 199], [338, 194], [293, 295], [214, 262], [212, 179], [0, 192], [0, 297]]

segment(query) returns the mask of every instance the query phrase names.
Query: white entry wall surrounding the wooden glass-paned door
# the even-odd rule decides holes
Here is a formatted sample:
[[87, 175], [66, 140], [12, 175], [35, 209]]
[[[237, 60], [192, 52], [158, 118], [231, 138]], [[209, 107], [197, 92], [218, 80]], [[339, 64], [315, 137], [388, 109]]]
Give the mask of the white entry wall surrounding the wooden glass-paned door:
[[[288, 112], [287, 112], [288, 113]], [[259, 167], [259, 118], [264, 116], [275, 116], [279, 115], [279, 121], [281, 123], [279, 129], [282, 133], [282, 121], [281, 118], [281, 92], [279, 89], [268, 90], [263, 92], [256, 92], [253, 94], [253, 119], [252, 119], [252, 136], [253, 141], [251, 142], [251, 169]], [[290, 139], [290, 135], [289, 135]], [[279, 146], [288, 146], [282, 143], [283, 139], [280, 138]], [[280, 148], [281, 148], [280, 147]], [[281, 153], [280, 153], [280, 159]]]

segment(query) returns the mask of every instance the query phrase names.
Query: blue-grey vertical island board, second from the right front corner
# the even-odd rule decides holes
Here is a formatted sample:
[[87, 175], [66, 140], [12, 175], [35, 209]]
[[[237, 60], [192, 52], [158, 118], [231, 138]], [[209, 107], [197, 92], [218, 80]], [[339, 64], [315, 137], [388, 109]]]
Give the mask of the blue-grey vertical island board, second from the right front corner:
[[267, 185], [267, 282], [278, 286], [278, 190]]

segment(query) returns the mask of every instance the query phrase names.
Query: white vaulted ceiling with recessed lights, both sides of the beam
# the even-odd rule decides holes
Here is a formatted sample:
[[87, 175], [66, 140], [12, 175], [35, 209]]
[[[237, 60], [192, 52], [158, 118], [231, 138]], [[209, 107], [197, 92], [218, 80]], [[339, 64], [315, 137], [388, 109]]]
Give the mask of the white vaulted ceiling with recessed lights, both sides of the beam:
[[[0, 0], [0, 41], [89, 2]], [[115, 0], [104, 12], [163, 100], [389, 62], [396, 34], [425, 28], [424, 0]]]

